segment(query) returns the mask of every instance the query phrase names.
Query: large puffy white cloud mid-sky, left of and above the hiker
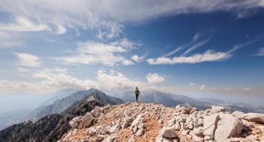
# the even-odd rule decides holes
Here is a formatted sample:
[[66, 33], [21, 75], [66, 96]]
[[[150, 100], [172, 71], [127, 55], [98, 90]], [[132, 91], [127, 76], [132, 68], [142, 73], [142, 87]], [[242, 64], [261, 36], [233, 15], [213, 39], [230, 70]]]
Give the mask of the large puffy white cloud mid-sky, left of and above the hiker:
[[104, 64], [106, 66], [114, 66], [118, 62], [125, 65], [133, 64], [131, 60], [126, 60], [120, 55], [129, 51], [122, 46], [92, 41], [79, 42], [77, 46], [73, 55], [57, 57], [56, 60], [69, 64]]

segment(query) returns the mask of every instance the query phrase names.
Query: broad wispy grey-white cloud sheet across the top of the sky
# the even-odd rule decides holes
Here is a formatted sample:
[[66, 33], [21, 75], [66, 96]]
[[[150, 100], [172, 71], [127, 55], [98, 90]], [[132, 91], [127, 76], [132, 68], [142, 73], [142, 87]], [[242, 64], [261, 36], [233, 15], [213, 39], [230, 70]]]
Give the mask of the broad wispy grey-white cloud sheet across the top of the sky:
[[[199, 4], [197, 4], [199, 3]], [[252, 1], [207, 1], [207, 0], [164, 0], [164, 1], [1, 1], [0, 36], [8, 33], [14, 39], [14, 33], [46, 31], [63, 34], [67, 28], [92, 30], [99, 39], [112, 39], [123, 33], [126, 23], [142, 23], [150, 19], [170, 15], [201, 12], [225, 11], [248, 17], [263, 8], [263, 2]], [[25, 36], [32, 36], [26, 35]], [[17, 46], [24, 39], [1, 39], [1, 47]], [[199, 33], [193, 40], [199, 38]], [[175, 51], [176, 52], [176, 51]]]

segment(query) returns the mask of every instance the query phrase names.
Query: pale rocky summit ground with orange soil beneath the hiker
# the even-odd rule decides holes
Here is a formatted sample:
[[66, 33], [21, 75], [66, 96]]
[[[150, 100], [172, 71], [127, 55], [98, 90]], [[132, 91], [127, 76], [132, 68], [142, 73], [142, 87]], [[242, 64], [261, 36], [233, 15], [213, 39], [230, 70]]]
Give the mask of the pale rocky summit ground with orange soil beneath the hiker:
[[224, 107], [165, 107], [126, 103], [95, 107], [69, 122], [62, 141], [264, 141], [264, 114]]

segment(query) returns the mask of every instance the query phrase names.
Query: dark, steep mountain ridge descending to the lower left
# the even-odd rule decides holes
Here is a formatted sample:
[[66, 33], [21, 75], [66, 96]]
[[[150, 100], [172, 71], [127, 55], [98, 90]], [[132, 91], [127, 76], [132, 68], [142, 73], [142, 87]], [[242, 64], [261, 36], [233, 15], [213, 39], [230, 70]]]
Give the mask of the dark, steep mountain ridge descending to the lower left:
[[82, 94], [82, 99], [64, 109], [60, 114], [50, 114], [35, 123], [25, 121], [1, 130], [1, 141], [57, 141], [70, 129], [69, 121], [72, 118], [90, 112], [95, 106], [123, 103], [122, 100], [106, 96], [97, 89], [78, 91], [76, 94]]

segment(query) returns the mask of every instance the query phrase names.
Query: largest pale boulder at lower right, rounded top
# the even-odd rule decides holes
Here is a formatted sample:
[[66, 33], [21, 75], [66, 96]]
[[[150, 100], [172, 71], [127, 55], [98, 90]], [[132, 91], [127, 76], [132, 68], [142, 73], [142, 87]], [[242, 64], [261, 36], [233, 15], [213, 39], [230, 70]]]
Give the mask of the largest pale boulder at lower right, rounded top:
[[239, 118], [231, 114], [223, 114], [221, 120], [217, 123], [215, 140], [226, 141], [226, 139], [240, 134], [242, 129], [243, 125]]

